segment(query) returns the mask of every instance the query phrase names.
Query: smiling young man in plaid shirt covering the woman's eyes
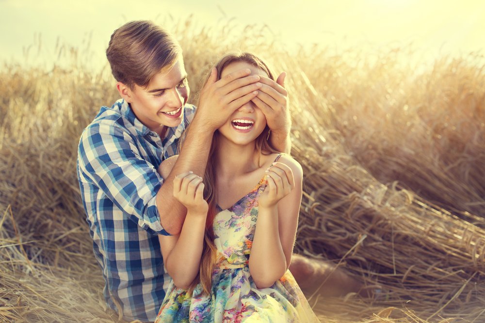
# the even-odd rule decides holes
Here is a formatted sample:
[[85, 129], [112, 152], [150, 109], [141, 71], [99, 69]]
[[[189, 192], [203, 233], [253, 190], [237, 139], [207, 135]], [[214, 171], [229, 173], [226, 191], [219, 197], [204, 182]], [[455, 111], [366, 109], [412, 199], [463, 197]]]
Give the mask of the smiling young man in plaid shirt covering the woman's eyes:
[[[149, 21], [129, 22], [114, 31], [106, 54], [122, 99], [102, 107], [83, 131], [78, 179], [106, 301], [125, 320], [149, 322], [169, 281], [158, 235], [178, 234], [185, 217], [173, 198], [173, 174], [202, 176], [213, 132], [251, 100], [267, 118], [272, 143], [289, 151], [285, 74], [275, 82], [240, 70], [216, 81], [212, 71], [194, 118], [182, 50], [172, 35]], [[160, 163], [176, 153], [173, 171], [162, 179]]]

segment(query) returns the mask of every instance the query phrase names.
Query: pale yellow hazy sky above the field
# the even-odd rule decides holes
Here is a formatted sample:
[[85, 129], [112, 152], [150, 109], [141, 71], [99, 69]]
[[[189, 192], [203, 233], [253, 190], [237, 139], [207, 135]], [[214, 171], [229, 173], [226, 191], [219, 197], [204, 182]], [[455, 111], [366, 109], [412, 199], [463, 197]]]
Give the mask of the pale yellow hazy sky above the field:
[[[129, 20], [162, 22], [169, 16], [197, 26], [224, 23], [267, 25], [293, 46], [318, 43], [348, 46], [406, 46], [427, 55], [484, 53], [485, 1], [482, 0], [0, 0], [0, 62], [23, 61], [23, 50], [42, 45], [44, 60], [55, 61], [57, 39], [85, 48], [105, 62], [111, 33]], [[32, 47], [32, 46], [31, 46]], [[29, 61], [36, 60], [30, 51]]]

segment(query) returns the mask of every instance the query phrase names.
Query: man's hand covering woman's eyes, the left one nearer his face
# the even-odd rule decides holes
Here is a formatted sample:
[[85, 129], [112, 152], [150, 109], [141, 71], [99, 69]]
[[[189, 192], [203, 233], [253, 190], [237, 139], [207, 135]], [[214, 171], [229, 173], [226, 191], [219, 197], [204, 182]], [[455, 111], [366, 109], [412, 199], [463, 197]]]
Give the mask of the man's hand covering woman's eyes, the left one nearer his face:
[[230, 115], [258, 95], [259, 75], [249, 75], [248, 68], [230, 73], [217, 80], [212, 69], [207, 83], [200, 92], [199, 106], [194, 122], [209, 131], [220, 128]]

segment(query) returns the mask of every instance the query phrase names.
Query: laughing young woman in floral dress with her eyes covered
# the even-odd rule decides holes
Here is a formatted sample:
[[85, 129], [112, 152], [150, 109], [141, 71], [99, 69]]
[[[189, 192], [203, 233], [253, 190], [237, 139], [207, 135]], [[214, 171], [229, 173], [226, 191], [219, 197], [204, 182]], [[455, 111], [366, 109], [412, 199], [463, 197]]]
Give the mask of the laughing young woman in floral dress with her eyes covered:
[[[249, 53], [226, 55], [210, 77], [244, 68], [274, 79]], [[160, 236], [173, 280], [156, 322], [319, 322], [288, 271], [302, 168], [268, 137], [264, 114], [246, 103], [214, 133], [204, 178], [175, 178], [187, 215], [179, 235]], [[163, 178], [176, 158], [162, 162]]]

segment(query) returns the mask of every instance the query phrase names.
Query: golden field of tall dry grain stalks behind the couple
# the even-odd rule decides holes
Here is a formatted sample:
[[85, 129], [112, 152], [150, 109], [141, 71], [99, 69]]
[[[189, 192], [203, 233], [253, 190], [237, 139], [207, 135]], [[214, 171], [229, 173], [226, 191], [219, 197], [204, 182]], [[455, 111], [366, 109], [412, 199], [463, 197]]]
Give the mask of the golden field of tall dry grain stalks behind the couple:
[[[288, 73], [292, 154], [305, 171], [295, 251], [380, 290], [307, 294], [322, 322], [485, 322], [482, 52], [424, 62], [405, 44], [289, 49], [264, 26], [231, 37], [230, 23], [165, 26], [193, 93], [235, 48]], [[82, 129], [118, 95], [86, 48], [59, 43], [53, 64], [0, 67], [1, 322], [118, 322], [75, 173]]]

